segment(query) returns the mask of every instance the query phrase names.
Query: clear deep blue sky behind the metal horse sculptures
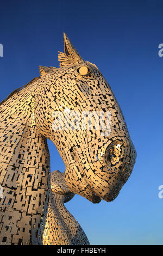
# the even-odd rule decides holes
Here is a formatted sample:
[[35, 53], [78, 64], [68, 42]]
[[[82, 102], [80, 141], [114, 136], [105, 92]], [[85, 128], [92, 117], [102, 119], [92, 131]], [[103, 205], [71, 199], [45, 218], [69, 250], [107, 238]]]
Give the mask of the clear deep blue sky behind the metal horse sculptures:
[[[0, 100], [39, 76], [39, 65], [59, 66], [63, 31], [85, 60], [95, 63], [122, 108], [137, 151], [133, 173], [114, 202], [66, 203], [92, 245], [163, 244], [162, 1], [1, 1]], [[48, 142], [51, 169], [64, 172]]]

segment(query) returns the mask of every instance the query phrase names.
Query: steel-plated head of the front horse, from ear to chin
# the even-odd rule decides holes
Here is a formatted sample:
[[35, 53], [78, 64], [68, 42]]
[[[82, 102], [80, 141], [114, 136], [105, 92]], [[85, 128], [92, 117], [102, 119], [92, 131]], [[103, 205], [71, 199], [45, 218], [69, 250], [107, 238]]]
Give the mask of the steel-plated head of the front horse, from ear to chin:
[[[46, 88], [36, 97], [36, 126], [59, 150], [70, 190], [93, 203], [101, 199], [111, 201], [133, 169], [135, 149], [121, 109], [101, 72], [80, 57], [65, 34], [64, 48], [65, 53], [59, 53], [61, 68], [49, 70], [45, 76]], [[91, 129], [81, 127], [83, 113], [88, 112], [89, 121], [93, 121], [92, 113], [107, 111], [111, 120], [105, 130], [97, 129], [93, 123]], [[52, 129], [59, 112], [68, 112], [68, 129], [62, 115], [59, 120], [62, 129]]]

